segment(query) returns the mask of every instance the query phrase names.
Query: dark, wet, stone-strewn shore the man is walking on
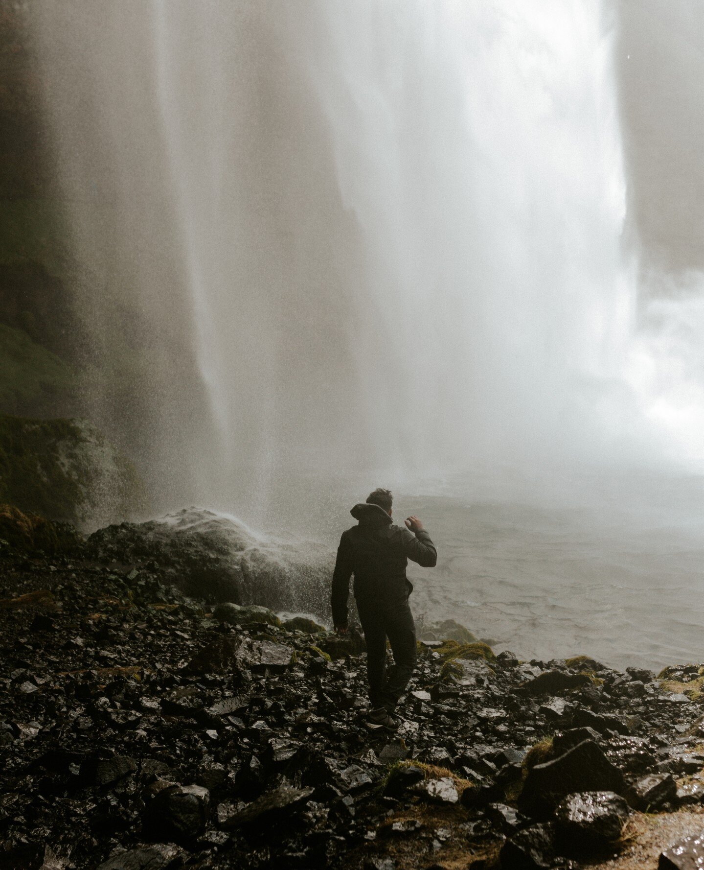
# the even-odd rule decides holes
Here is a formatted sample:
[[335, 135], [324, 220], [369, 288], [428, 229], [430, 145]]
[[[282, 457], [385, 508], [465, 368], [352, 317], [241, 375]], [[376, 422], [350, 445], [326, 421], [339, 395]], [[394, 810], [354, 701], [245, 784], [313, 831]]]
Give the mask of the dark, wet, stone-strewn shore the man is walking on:
[[658, 859], [704, 832], [699, 666], [521, 662], [448, 624], [389, 733], [358, 638], [154, 561], [0, 552], [0, 868], [700, 866], [695, 836]]

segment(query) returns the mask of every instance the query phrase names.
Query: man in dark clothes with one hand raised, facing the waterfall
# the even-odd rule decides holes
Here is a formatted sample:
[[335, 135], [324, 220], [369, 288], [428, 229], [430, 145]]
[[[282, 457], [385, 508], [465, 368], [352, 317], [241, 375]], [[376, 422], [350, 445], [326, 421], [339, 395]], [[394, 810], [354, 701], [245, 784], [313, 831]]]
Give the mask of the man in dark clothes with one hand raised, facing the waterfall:
[[[394, 498], [375, 489], [366, 504], [350, 513], [358, 521], [342, 533], [332, 583], [335, 630], [347, 632], [349, 578], [355, 575], [355, 599], [367, 642], [369, 719], [393, 728], [391, 715], [415, 667], [415, 624], [408, 606], [413, 586], [406, 577], [408, 559], [424, 568], [437, 562], [435, 545], [417, 517], [408, 517], [407, 528], [392, 525]], [[394, 666], [386, 673], [386, 639]]]

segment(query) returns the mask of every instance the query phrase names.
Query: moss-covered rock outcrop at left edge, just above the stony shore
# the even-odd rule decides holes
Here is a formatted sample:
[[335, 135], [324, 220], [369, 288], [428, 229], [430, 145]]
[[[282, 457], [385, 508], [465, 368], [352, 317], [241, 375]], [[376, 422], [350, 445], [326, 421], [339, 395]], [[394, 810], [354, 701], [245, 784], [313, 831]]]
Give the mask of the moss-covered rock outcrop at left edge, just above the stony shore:
[[149, 510], [134, 466], [88, 421], [5, 415], [0, 502], [82, 530]]

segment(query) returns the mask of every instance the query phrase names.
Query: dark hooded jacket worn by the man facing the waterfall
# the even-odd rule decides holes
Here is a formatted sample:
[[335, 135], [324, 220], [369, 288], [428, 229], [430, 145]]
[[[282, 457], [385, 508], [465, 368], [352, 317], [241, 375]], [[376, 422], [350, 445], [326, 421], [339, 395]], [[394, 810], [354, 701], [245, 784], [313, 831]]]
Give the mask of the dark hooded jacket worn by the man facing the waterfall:
[[359, 522], [342, 532], [333, 574], [333, 621], [338, 628], [347, 626], [353, 573], [355, 599], [360, 604], [385, 605], [408, 599], [412, 592], [406, 577], [408, 559], [424, 568], [437, 562], [435, 545], [425, 530], [414, 533], [393, 525], [379, 505], [355, 505], [350, 513]]

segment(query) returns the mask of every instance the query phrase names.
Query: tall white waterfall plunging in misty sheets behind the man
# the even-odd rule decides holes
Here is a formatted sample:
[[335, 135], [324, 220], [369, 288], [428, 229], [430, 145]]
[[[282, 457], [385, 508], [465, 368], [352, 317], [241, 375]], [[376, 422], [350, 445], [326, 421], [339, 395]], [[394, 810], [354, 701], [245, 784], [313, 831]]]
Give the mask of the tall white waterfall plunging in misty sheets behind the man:
[[[198, 498], [266, 499], [290, 472], [413, 485], [667, 454], [598, 4], [39, 18], [83, 249], [132, 264], [136, 316], [183, 338], [183, 391], [207, 398], [156, 425]], [[99, 208], [75, 195], [87, 174]]]

